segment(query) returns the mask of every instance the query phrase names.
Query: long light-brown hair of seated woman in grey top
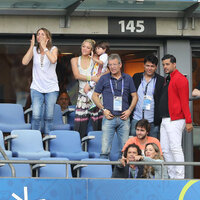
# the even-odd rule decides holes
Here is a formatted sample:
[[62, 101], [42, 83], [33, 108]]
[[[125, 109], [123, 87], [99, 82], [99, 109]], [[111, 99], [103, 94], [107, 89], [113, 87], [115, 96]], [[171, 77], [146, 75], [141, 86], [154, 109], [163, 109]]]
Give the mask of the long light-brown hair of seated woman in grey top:
[[[155, 144], [155, 143], [147, 143], [146, 146], [145, 146], [144, 154], [146, 153], [146, 148], [149, 145], [151, 145], [154, 148], [155, 152], [156, 152], [156, 155], [154, 156], [153, 159], [155, 159], [155, 160], [158, 160], [158, 159], [163, 160], [163, 158], [161, 156], [161, 153], [160, 153], [160, 149], [159, 149], [158, 145]], [[152, 166], [150, 166], [150, 165], [145, 165], [144, 166], [144, 171], [143, 171], [143, 177], [144, 178], [149, 178], [149, 174], [152, 174], [153, 176], [155, 175], [154, 168]]]

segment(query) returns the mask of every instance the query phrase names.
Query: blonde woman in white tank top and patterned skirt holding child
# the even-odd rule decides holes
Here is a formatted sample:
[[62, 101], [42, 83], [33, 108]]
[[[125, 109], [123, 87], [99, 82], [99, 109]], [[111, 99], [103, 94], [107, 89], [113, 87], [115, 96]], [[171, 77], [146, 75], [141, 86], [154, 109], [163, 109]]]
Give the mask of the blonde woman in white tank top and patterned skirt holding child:
[[84, 87], [88, 81], [97, 82], [100, 78], [92, 76], [94, 62], [91, 55], [93, 54], [94, 46], [94, 40], [84, 40], [81, 45], [81, 56], [71, 59], [74, 77], [79, 81], [74, 130], [80, 133], [81, 138], [87, 135], [88, 121], [90, 118], [92, 119], [93, 130], [101, 130], [103, 118], [103, 114], [98, 108], [92, 111], [88, 110], [91, 106], [91, 101], [84, 91]]

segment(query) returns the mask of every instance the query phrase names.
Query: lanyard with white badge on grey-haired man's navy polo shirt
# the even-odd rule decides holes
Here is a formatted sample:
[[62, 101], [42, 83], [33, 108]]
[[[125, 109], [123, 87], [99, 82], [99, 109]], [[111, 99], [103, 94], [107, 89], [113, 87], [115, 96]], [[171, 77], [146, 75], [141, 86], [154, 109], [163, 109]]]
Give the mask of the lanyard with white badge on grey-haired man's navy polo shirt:
[[110, 88], [113, 94], [113, 110], [114, 111], [122, 111], [122, 95], [124, 93], [124, 79], [122, 78], [122, 90], [121, 96], [115, 96], [115, 92], [113, 89], [112, 81], [110, 79]]

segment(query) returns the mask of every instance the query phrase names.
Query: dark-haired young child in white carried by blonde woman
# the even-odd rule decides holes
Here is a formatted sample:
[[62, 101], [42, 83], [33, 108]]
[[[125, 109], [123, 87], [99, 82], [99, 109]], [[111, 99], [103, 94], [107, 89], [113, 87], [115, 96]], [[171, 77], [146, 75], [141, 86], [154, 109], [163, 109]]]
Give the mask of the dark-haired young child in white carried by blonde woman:
[[[93, 61], [95, 62], [95, 65], [92, 70], [91, 76], [100, 76], [102, 74], [105, 74], [108, 70], [108, 51], [109, 51], [109, 43], [106, 41], [101, 41], [96, 44], [95, 47], [95, 53], [96, 55], [91, 55]], [[94, 81], [89, 81], [84, 88], [85, 93], [92, 101], [92, 94], [94, 92], [94, 87], [96, 83]], [[92, 101], [92, 105], [90, 106], [89, 110], [92, 110], [95, 108], [96, 105]]]

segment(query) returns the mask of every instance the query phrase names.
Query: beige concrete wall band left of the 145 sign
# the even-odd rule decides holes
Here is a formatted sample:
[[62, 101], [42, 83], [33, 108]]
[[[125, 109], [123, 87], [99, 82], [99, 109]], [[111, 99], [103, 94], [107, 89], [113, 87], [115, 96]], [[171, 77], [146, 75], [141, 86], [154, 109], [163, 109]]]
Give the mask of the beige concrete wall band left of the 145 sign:
[[106, 17], [71, 17], [69, 28], [60, 28], [58, 16], [0, 16], [0, 33], [35, 33], [46, 27], [56, 34], [107, 34]]

